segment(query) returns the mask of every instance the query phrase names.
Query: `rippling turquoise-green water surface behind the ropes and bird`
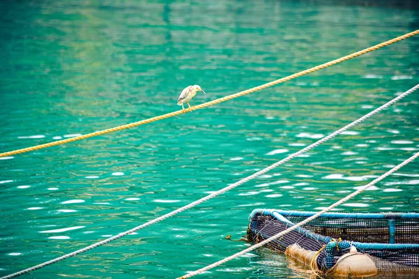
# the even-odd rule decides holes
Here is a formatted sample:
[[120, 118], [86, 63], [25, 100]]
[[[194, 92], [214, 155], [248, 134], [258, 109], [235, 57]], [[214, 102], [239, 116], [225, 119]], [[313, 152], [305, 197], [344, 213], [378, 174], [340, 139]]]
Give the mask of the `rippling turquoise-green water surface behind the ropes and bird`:
[[[2, 1], [0, 151], [179, 110], [419, 28], [417, 7], [332, 1]], [[0, 275], [168, 213], [418, 83], [419, 38], [205, 110], [1, 158]], [[266, 175], [26, 278], [174, 278], [247, 247], [256, 208], [318, 211], [419, 150], [418, 93]], [[418, 162], [339, 211], [418, 211]], [[203, 278], [307, 278], [259, 250]]]

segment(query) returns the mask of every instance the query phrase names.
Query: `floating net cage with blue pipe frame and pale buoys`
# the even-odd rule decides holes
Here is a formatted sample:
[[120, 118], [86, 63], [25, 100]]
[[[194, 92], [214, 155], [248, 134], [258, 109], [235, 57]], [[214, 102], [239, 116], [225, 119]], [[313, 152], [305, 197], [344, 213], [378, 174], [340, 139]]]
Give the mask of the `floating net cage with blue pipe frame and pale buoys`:
[[[260, 242], [316, 212], [255, 209], [247, 238]], [[267, 244], [316, 273], [344, 278], [419, 275], [419, 213], [324, 213]]]

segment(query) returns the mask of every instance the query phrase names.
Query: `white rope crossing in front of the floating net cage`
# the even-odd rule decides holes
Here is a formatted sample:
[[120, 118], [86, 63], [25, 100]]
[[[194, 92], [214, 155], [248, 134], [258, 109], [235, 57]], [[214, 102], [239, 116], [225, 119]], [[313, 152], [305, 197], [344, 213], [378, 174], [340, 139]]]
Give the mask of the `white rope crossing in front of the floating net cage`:
[[264, 241], [257, 243], [247, 249], [244, 249], [240, 252], [235, 253], [234, 255], [231, 255], [230, 257], [226, 257], [225, 259], [221, 259], [221, 261], [219, 262], [214, 262], [214, 264], [210, 264], [209, 266], [205, 266], [202, 269], [198, 269], [197, 271], [193, 271], [191, 273], [188, 273], [182, 277], [179, 277], [177, 279], [183, 279], [183, 278], [190, 278], [192, 276], [196, 276], [200, 273], [203, 273], [209, 269], [213, 269], [216, 266], [219, 266], [220, 264], [224, 264], [232, 259], [235, 259], [237, 257], [240, 257], [244, 254], [246, 254], [247, 252], [251, 252], [261, 246], [264, 246], [266, 243], [269, 243], [271, 241], [274, 241], [275, 239], [278, 239], [279, 237], [283, 236], [284, 234], [288, 234], [288, 232], [293, 231], [293, 229], [296, 229], [297, 227], [300, 227], [306, 223], [309, 223], [311, 220], [314, 220], [316, 218], [318, 218], [318, 216], [321, 216], [323, 213], [326, 213], [328, 211], [330, 211], [331, 209], [334, 209], [336, 206], [339, 206], [341, 204], [343, 204], [344, 202], [347, 202], [348, 199], [351, 199], [353, 197], [355, 197], [356, 195], [358, 195], [359, 193], [361, 193], [364, 190], [367, 190], [367, 188], [374, 186], [375, 183], [377, 183], [378, 181], [381, 181], [383, 179], [385, 179], [385, 177], [389, 176], [390, 174], [392, 174], [393, 172], [396, 172], [399, 168], [403, 167], [404, 165], [407, 165], [409, 163], [411, 163], [411, 161], [415, 160], [416, 158], [418, 158], [419, 156], [419, 152], [416, 153], [415, 155], [411, 156], [411, 158], [405, 160], [403, 163], [401, 163], [400, 165], [397, 165], [396, 167], [393, 167], [392, 169], [390, 169], [388, 172], [386, 172], [385, 174], [381, 175], [380, 177], [378, 177], [377, 179], [374, 179], [374, 181], [368, 183], [365, 186], [362, 186], [360, 189], [356, 190], [355, 192], [353, 192], [351, 195], [347, 195], [346, 197], [344, 197], [343, 199], [340, 199], [338, 202], [335, 202], [335, 204], [332, 204], [331, 206], [329, 206], [326, 209], [323, 209], [322, 211], [314, 214], [314, 216], [311, 216], [303, 221], [301, 221], [300, 223], [297, 223], [295, 225], [293, 225], [292, 227], [289, 227], [288, 229], [279, 232], [278, 234], [275, 234], [274, 236], [271, 236], [269, 239], [265, 239]]

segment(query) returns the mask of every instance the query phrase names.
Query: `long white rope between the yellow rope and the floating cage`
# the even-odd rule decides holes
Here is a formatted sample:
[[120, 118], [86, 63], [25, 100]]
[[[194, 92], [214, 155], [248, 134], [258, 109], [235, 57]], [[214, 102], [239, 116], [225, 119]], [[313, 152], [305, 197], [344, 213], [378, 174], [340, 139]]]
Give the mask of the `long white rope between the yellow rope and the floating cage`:
[[323, 139], [318, 140], [314, 144], [311, 144], [311, 145], [305, 147], [304, 149], [301, 149], [300, 151], [298, 151], [296, 153], [293, 153], [291, 156], [288, 156], [287, 158], [284, 158], [283, 160], [280, 160], [277, 163], [274, 163], [273, 165], [270, 165], [269, 167], [266, 167], [265, 169], [262, 169], [259, 172], [256, 172], [255, 174], [252, 174], [251, 176], [247, 176], [245, 179], [242, 179], [240, 181], [237, 181], [236, 183], [233, 183], [230, 186], [227, 186], [225, 188], [222, 188], [221, 190], [218, 190], [218, 191], [212, 193], [211, 195], [207, 195], [206, 197], [203, 197], [202, 199], [198, 199], [195, 202], [191, 202], [190, 204], [187, 204], [186, 206], [182, 206], [179, 209], [176, 209], [175, 211], [172, 211], [172, 212], [167, 213], [167, 214], [165, 214], [163, 216], [160, 216], [159, 218], [155, 218], [155, 219], [153, 219], [153, 220], [151, 220], [151, 221], [149, 221], [147, 223], [144, 223], [142, 225], [139, 225], [138, 227], [134, 227], [133, 229], [129, 229], [126, 232], [122, 232], [122, 233], [117, 234], [115, 236], [112, 236], [112, 237], [110, 237], [108, 239], [104, 239], [103, 241], [96, 242], [94, 244], [91, 244], [90, 246], [87, 246], [87, 247], [84, 247], [84, 248], [82, 248], [80, 250], [76, 250], [74, 252], [68, 253], [68, 254], [63, 255], [61, 257], [57, 257], [55, 259], [51, 259], [50, 261], [43, 262], [42, 264], [37, 264], [36, 266], [32, 266], [29, 269], [23, 269], [22, 271], [18, 271], [16, 273], [12, 273], [12, 274], [10, 274], [8, 276], [3, 276], [0, 279], [14, 278], [14, 277], [17, 277], [17, 276], [21, 276], [24, 273], [35, 271], [36, 269], [41, 269], [41, 268], [43, 268], [45, 266], [48, 266], [50, 264], [54, 264], [56, 262], [60, 262], [63, 259], [68, 259], [69, 257], [73, 257], [75, 255], [78, 255], [78, 254], [82, 253], [82, 252], [87, 252], [87, 251], [89, 251], [91, 249], [94, 249], [94, 248], [96, 248], [98, 246], [102, 246], [103, 244], [106, 244], [106, 243], [108, 243], [110, 241], [114, 241], [116, 239], [120, 239], [123, 236], [126, 236], [128, 234], [131, 234], [133, 232], [137, 232], [138, 230], [144, 229], [145, 227], [148, 227], [150, 225], [159, 223], [159, 222], [161, 222], [161, 221], [163, 221], [163, 220], [165, 220], [167, 218], [170, 218], [172, 216], [175, 216], [177, 213], [181, 213], [182, 211], [186, 211], [188, 209], [191, 209], [193, 206], [197, 206], [198, 204], [201, 204], [203, 202], [206, 202], [208, 199], [212, 199], [213, 197], [216, 197], [218, 195], [221, 195], [223, 193], [226, 193], [228, 190], [231, 190], [233, 188], [236, 188], [237, 186], [240, 186], [243, 183], [246, 183], [247, 181], [250, 181], [252, 179], [255, 179], [256, 177], [258, 177], [258, 176], [260, 176], [262, 174], [265, 174], [265, 172], [269, 172], [271, 169], [274, 169], [275, 167], [278, 167], [279, 165], [282, 165], [282, 164], [288, 162], [289, 160], [291, 160], [291, 159], [293, 159], [293, 158], [295, 158], [297, 156], [300, 156], [300, 155], [306, 153], [307, 151], [310, 151], [311, 149], [314, 149], [314, 147], [316, 147], [316, 146], [318, 146], [320, 144], [323, 144], [323, 142], [327, 142], [328, 140], [332, 139], [333, 137], [336, 137], [337, 135], [339, 135], [340, 133], [343, 133], [345, 130], [348, 130], [349, 128], [351, 128], [351, 127], [355, 126], [356, 124], [364, 121], [365, 119], [368, 119], [369, 117], [373, 116], [374, 114], [376, 114], [378, 112], [381, 112], [381, 110], [385, 110], [387, 107], [389, 107], [390, 105], [396, 103], [398, 100], [401, 100], [402, 98], [408, 96], [410, 93], [413, 93], [413, 91], [416, 91], [416, 89], [418, 89], [418, 88], [419, 88], [419, 84], [416, 85], [416, 86], [414, 86], [412, 89], [409, 89], [409, 91], [406, 91], [406, 92], [402, 93], [401, 95], [397, 96], [396, 98], [390, 100], [388, 103], [385, 103], [381, 107], [378, 107], [376, 110], [373, 110], [372, 112], [369, 112], [369, 114], [366, 114], [365, 116], [362, 116], [360, 119], [358, 119], [356, 121], [353, 121], [352, 123], [346, 125], [344, 128], [341, 128], [341, 129], [335, 131], [334, 133], [328, 135], [327, 137], [323, 137]]

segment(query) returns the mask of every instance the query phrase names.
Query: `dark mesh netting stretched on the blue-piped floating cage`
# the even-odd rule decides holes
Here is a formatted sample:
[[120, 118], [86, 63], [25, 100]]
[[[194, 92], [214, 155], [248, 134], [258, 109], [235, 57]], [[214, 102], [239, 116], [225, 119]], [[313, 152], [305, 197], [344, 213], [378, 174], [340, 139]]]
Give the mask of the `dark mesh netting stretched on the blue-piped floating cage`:
[[[284, 214], [284, 217], [292, 223], [300, 223], [307, 217], [291, 216]], [[395, 243], [409, 244], [419, 242], [419, 219], [406, 218], [392, 220], [395, 223]], [[248, 238], [254, 242], [263, 241], [270, 236], [274, 236], [284, 231], [289, 225], [281, 222], [270, 215], [256, 213], [251, 218], [248, 230]], [[268, 248], [279, 252], [285, 252], [288, 246], [297, 244], [304, 250], [318, 251], [323, 245], [327, 244], [322, 236], [329, 236], [332, 239], [342, 239], [360, 243], [389, 243], [390, 229], [389, 220], [385, 218], [326, 218], [319, 217], [306, 225], [302, 226], [309, 232], [320, 234], [308, 237], [307, 233], [293, 231], [280, 239], [272, 241]], [[348, 248], [333, 250], [332, 252], [323, 250], [317, 258], [318, 268], [321, 270], [330, 269], [337, 259], [348, 252]], [[358, 252], [363, 252], [372, 256], [376, 262], [378, 271], [403, 271], [419, 268], [419, 249], [416, 247], [406, 249], [381, 249], [375, 247], [371, 249], [358, 248]], [[326, 259], [327, 258], [327, 259]], [[329, 262], [329, 263], [327, 263]]]

